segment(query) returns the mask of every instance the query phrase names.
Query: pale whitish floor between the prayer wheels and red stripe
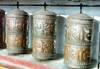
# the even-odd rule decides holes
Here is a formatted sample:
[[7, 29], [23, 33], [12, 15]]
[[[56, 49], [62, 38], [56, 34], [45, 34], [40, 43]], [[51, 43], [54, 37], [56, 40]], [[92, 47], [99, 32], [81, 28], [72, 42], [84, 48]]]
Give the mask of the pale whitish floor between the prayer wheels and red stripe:
[[[46, 61], [36, 60], [32, 56], [31, 50], [28, 54], [9, 55], [6, 51], [6, 49], [3, 49], [3, 50], [0, 50], [0, 55], [4, 55], [4, 56], [16, 58], [16, 59], [21, 59], [21, 60], [29, 61], [29, 62], [32, 62], [32, 63], [35, 63], [35, 64], [44, 65], [44, 66], [50, 66], [50, 67], [54, 67], [54, 68], [57, 68], [57, 69], [69, 69], [69, 68], [66, 68], [64, 66], [63, 55], [60, 55], [60, 54], [57, 54], [56, 59], [46, 60]], [[93, 68], [93, 69], [97, 69], [97, 68]]]

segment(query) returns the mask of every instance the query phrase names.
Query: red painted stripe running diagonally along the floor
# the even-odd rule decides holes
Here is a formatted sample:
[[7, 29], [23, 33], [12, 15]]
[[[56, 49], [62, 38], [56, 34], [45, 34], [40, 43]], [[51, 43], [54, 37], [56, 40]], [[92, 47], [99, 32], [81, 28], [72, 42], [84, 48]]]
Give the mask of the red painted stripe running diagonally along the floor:
[[22, 61], [22, 60], [19, 60], [19, 59], [15, 59], [15, 58], [3, 56], [3, 55], [0, 55], [0, 60], [5, 60], [5, 61], [17, 64], [17, 65], [26, 66], [26, 67], [33, 68], [33, 69], [56, 69], [56, 68], [53, 68], [53, 67], [34, 64], [34, 63], [29, 62], [29, 61], [25, 61], [25, 60]]

